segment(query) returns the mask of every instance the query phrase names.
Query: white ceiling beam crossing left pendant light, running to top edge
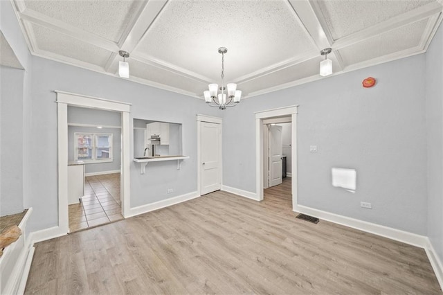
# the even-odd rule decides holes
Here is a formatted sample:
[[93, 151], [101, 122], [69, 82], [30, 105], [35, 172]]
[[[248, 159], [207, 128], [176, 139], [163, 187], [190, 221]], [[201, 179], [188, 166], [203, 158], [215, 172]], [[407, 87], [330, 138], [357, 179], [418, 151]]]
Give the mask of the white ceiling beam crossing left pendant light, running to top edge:
[[[152, 24], [154, 24], [154, 21], [160, 15], [166, 3], [168, 3], [168, 0], [147, 1], [145, 7], [143, 7], [134, 21], [133, 26], [128, 26], [127, 32], [124, 34], [125, 37], [118, 42], [119, 49], [117, 49], [116, 52], [118, 50], [123, 50], [131, 54], [138, 43], [141, 42], [141, 39], [143, 39], [147, 30], [149, 30]], [[131, 56], [129, 55], [129, 57]], [[119, 58], [120, 56], [116, 54], [114, 55], [114, 58], [109, 59], [105, 65], [105, 71], [110, 71], [115, 68]]]

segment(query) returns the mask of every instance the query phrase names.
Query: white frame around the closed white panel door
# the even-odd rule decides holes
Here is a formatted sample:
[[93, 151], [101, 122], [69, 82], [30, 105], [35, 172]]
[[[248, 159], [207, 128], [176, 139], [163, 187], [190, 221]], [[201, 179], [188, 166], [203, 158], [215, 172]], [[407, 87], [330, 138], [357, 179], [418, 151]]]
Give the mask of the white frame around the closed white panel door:
[[219, 164], [220, 164], [220, 188], [223, 184], [223, 143], [221, 142], [223, 136], [223, 119], [219, 117], [206, 116], [197, 114], [197, 194], [201, 196], [201, 122], [215, 123], [220, 125], [219, 143], [220, 143], [220, 154], [219, 154]]

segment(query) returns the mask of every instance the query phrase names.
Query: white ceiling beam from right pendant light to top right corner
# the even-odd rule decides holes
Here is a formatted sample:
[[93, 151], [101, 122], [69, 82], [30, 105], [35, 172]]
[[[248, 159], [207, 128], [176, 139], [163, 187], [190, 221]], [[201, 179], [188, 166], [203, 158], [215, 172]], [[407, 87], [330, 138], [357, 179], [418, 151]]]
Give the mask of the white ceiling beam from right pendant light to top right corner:
[[415, 21], [426, 19], [440, 12], [442, 12], [442, 4], [437, 2], [428, 3], [414, 10], [410, 10], [401, 15], [397, 15], [396, 17], [392, 17], [386, 21], [382, 21], [374, 26], [370, 26], [369, 28], [360, 30], [359, 32], [336, 39], [336, 41], [332, 44], [332, 49], [337, 50], [358, 42], [362, 42], [365, 39], [370, 39], [371, 37], [386, 33], [389, 30], [405, 26]]

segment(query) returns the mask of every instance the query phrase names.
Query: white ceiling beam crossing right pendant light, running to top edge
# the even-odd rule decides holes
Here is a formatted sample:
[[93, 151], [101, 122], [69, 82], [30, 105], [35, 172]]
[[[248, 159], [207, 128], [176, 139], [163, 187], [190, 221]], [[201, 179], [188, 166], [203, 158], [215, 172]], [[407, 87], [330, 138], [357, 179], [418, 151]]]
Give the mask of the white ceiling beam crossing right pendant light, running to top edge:
[[[309, 0], [288, 0], [293, 12], [302, 22], [312, 41], [318, 48], [318, 55], [324, 48], [332, 48], [332, 35], [327, 28], [325, 21], [321, 15], [316, 12], [316, 2]], [[343, 71], [344, 64], [340, 55], [336, 55], [334, 51], [330, 53], [329, 58], [338, 65], [338, 70]]]

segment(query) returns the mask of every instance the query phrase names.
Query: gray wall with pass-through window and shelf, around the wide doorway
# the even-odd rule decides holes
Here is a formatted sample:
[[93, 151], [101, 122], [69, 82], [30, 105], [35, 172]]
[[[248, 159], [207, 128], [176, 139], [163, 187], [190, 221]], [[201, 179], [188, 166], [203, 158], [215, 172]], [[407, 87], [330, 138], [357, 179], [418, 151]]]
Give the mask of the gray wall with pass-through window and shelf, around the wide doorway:
[[[178, 93], [163, 91], [128, 80], [102, 75], [75, 66], [33, 57], [33, 114], [28, 141], [44, 141], [30, 151], [34, 163], [29, 181], [35, 197], [30, 206], [33, 212], [30, 230], [57, 225], [57, 104], [55, 89], [132, 103], [133, 118], [181, 123], [183, 154], [190, 159], [182, 161], [177, 170], [176, 161], [149, 163], [146, 174], [140, 174], [140, 164], [131, 162], [131, 207], [150, 204], [197, 190], [197, 119], [196, 114], [221, 116], [221, 111]], [[132, 129], [132, 127], [131, 127]], [[133, 136], [131, 136], [131, 142]], [[131, 143], [131, 150], [133, 146]], [[45, 157], [39, 157], [45, 154]], [[133, 154], [131, 153], [131, 158]], [[167, 194], [168, 188], [174, 193]], [[44, 204], [44, 208], [39, 207]]]

